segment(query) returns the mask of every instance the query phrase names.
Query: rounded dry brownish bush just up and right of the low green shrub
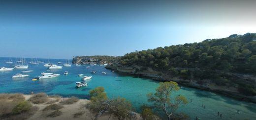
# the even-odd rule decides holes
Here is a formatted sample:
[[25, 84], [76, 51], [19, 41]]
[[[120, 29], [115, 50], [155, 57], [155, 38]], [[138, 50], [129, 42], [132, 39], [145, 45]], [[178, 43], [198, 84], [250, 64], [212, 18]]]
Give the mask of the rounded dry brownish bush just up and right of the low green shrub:
[[48, 97], [45, 93], [38, 93], [32, 96], [29, 101], [31, 101], [34, 104], [41, 104], [45, 103], [48, 100]]

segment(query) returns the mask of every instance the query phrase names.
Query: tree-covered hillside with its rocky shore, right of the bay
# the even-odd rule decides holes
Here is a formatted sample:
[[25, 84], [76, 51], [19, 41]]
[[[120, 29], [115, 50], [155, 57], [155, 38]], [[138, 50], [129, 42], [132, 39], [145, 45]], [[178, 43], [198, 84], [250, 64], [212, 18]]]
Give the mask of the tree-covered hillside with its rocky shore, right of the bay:
[[256, 33], [135, 51], [106, 68], [256, 103]]

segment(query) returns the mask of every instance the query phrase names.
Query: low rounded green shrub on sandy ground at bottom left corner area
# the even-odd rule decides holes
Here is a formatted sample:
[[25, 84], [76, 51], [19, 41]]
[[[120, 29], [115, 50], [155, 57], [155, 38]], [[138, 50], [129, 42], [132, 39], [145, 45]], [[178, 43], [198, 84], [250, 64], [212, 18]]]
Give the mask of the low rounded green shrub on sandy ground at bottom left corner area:
[[31, 107], [32, 105], [28, 101], [21, 101], [12, 109], [12, 114], [27, 112]]

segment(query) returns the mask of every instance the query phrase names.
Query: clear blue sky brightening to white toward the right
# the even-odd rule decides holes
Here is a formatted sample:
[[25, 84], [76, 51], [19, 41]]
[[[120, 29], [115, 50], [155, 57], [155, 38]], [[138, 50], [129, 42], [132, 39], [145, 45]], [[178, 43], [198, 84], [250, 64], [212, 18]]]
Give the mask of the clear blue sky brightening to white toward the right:
[[120, 56], [256, 33], [256, 0], [0, 0], [0, 56]]

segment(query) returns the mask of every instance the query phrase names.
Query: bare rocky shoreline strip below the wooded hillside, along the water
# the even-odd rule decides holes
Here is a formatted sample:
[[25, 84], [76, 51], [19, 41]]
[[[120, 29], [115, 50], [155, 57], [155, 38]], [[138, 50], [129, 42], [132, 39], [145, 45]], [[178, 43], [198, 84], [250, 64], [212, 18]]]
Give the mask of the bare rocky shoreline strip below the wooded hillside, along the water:
[[237, 88], [233, 88], [233, 87], [217, 86], [213, 83], [200, 85], [194, 82], [193, 80], [170, 77], [166, 73], [154, 71], [151, 68], [147, 68], [145, 70], [139, 70], [140, 66], [127, 67], [127, 66], [118, 66], [116, 64], [111, 64], [111, 65], [107, 65], [105, 68], [116, 71], [116, 72], [125, 73], [128, 75], [135, 75], [135, 76], [153, 79], [156, 81], [175, 81], [187, 87], [192, 87], [192, 88], [205, 90], [205, 91], [211, 91], [211, 92], [215, 92], [224, 96], [229, 96], [238, 100], [256, 103], [256, 96], [245, 96], [239, 93]]

